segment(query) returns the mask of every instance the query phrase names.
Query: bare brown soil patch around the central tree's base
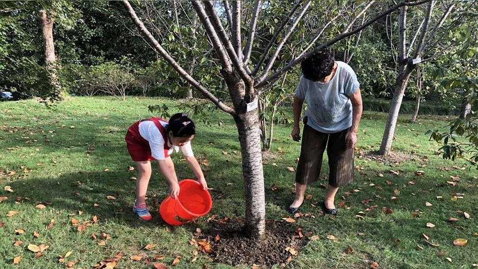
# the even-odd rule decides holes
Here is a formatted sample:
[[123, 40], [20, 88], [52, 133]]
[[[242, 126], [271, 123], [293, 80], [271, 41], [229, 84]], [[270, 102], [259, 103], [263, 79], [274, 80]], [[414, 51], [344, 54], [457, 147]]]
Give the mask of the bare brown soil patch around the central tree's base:
[[264, 242], [248, 238], [244, 232], [244, 222], [210, 224], [210, 228], [197, 237], [198, 240], [206, 239], [210, 242], [209, 254], [215, 262], [234, 266], [285, 266], [298, 255], [299, 249], [308, 241], [301, 228], [293, 228], [284, 222], [267, 224]]

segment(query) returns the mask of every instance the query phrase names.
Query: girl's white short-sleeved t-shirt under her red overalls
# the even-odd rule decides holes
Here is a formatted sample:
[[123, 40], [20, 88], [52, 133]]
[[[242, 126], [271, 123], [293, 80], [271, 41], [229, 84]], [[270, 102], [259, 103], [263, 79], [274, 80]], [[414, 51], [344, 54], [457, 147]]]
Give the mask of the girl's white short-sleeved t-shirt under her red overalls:
[[[159, 123], [162, 127], [166, 127], [166, 125], [168, 125], [168, 122], [162, 120], [159, 120]], [[139, 123], [138, 129], [141, 137], [148, 140], [151, 148], [151, 155], [157, 160], [163, 160], [165, 158], [164, 138], [162, 137], [158, 127], [156, 127], [156, 124], [154, 124], [152, 120], [143, 120]], [[187, 142], [186, 145], [181, 147], [173, 147], [168, 141], [168, 146], [171, 148], [168, 152], [170, 155], [174, 152], [174, 150], [178, 152], [179, 149], [181, 149], [185, 156], [194, 156], [193, 149], [191, 148], [191, 141]]]

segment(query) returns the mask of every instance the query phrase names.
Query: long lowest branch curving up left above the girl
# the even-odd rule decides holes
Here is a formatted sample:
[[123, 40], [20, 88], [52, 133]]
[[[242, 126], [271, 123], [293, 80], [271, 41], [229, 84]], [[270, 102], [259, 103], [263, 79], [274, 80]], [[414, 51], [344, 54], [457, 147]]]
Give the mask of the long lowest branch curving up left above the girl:
[[171, 55], [164, 50], [164, 48], [158, 43], [158, 41], [153, 37], [153, 35], [150, 33], [146, 27], [144, 27], [144, 24], [141, 22], [141, 20], [138, 18], [136, 15], [136, 12], [134, 11], [133, 7], [130, 5], [130, 3], [126, 0], [123, 0], [123, 5], [128, 11], [128, 13], [131, 16], [131, 19], [133, 22], [136, 24], [136, 26], [139, 28], [139, 30], [146, 36], [148, 41], [154, 46], [156, 51], [166, 60], [168, 63], [176, 69], [176, 71], [183, 77], [185, 78], [191, 85], [193, 85], [195, 88], [197, 88], [203, 95], [211, 100], [219, 109], [223, 110], [224, 112], [227, 112], [231, 115], [235, 115], [235, 111], [232, 109], [232, 107], [226, 105], [225, 103], [219, 101], [217, 97], [215, 97], [211, 92], [208, 91], [203, 85], [201, 85], [198, 81], [196, 81], [191, 75], [189, 75], [174, 59], [171, 57]]

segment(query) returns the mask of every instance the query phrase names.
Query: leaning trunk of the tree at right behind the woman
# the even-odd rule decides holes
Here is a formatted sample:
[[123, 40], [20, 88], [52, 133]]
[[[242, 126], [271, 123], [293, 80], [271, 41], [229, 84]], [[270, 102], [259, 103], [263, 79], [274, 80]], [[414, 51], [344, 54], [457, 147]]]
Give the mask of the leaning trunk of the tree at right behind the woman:
[[387, 119], [387, 124], [385, 124], [382, 144], [380, 145], [379, 154], [381, 155], [387, 155], [392, 148], [392, 140], [397, 124], [398, 112], [400, 111], [403, 95], [405, 94], [405, 89], [407, 88], [408, 80], [413, 70], [412, 68], [413, 67], [409, 66], [408, 64], [400, 68], [402, 72], [399, 73], [395, 83], [395, 91], [393, 93], [393, 99], [390, 105], [389, 116]]

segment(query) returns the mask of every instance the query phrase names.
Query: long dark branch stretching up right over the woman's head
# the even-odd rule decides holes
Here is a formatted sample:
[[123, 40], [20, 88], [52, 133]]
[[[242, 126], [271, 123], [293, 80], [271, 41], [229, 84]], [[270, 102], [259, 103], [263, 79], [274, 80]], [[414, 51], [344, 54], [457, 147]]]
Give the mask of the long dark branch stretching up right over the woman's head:
[[305, 60], [307, 57], [313, 55], [314, 53], [316, 53], [317, 51], [325, 48], [325, 47], [328, 47], [330, 45], [333, 45], [337, 42], [339, 42], [340, 40], [346, 38], [346, 37], [350, 37], [351, 35], [361, 31], [362, 29], [364, 29], [365, 27], [373, 24], [374, 22], [380, 20], [383, 16], [387, 15], [387, 14], [390, 14], [391, 12], [397, 10], [398, 8], [402, 7], [402, 6], [417, 6], [417, 5], [421, 5], [421, 4], [424, 4], [424, 3], [427, 3], [427, 2], [430, 2], [430, 0], [421, 0], [421, 1], [411, 1], [411, 2], [400, 2], [394, 6], [392, 6], [391, 8], [389, 8], [388, 10], [385, 10], [383, 12], [381, 12], [380, 14], [378, 14], [377, 16], [375, 16], [373, 19], [370, 19], [369, 21], [367, 21], [365, 24], [363, 24], [362, 26], [360, 27], [357, 27], [356, 29], [350, 31], [350, 32], [347, 32], [347, 33], [342, 33], [340, 35], [338, 35], [337, 37], [333, 38], [333, 39], [330, 39], [328, 40], [327, 42], [317, 46], [316, 48], [314, 48], [313, 50], [307, 52], [306, 54], [302, 55], [302, 56], [299, 56], [297, 58], [295, 58], [294, 60], [292, 60], [291, 62], [289, 62], [284, 68], [282, 68], [281, 70], [275, 72], [273, 75], [267, 77], [266, 79], [264, 79], [263, 81], [256, 81], [256, 84], [255, 84], [255, 87], [262, 87], [264, 85], [266, 85], [268, 82], [270, 82], [271, 80], [275, 80], [277, 79], [278, 77], [280, 77], [282, 74], [285, 73], [285, 71], [289, 70], [292, 66], [295, 66], [296, 64], [302, 62], [303, 60]]

